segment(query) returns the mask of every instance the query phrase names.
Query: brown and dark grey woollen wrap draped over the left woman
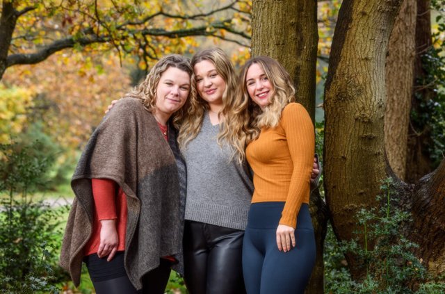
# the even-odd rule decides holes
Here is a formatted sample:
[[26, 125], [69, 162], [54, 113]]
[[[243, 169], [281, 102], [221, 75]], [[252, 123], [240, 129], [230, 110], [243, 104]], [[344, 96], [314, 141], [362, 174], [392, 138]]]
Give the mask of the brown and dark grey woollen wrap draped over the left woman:
[[127, 195], [124, 264], [137, 289], [162, 256], [182, 261], [186, 175], [175, 130], [170, 126], [169, 131], [170, 144], [138, 99], [121, 99], [92, 133], [72, 177], [76, 198], [60, 253], [60, 265], [76, 286], [83, 247], [92, 234], [93, 178], [112, 179]]

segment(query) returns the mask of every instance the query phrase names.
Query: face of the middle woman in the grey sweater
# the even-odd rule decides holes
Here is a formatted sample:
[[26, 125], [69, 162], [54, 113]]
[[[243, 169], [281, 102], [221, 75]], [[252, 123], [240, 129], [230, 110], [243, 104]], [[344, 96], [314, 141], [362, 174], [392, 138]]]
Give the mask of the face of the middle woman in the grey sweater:
[[222, 104], [226, 83], [209, 60], [202, 60], [193, 67], [197, 92], [209, 104]]

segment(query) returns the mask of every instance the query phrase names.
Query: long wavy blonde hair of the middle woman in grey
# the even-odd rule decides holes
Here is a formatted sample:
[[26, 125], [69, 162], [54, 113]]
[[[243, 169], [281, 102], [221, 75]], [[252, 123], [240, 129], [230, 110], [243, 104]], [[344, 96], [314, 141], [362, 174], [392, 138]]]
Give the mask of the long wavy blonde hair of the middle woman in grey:
[[[223, 115], [225, 119], [232, 116], [232, 108], [234, 105], [235, 90], [236, 90], [236, 74], [229, 57], [225, 52], [219, 48], [212, 48], [198, 52], [191, 60], [191, 67], [195, 67], [197, 63], [203, 60], [208, 60], [215, 65], [216, 72], [225, 81], [225, 90], [223, 92], [223, 108], [218, 115]], [[179, 129], [178, 142], [179, 147], [184, 149], [188, 142], [196, 138], [197, 133], [200, 132], [202, 121], [204, 120], [204, 113], [209, 109], [207, 101], [202, 99], [200, 95], [191, 97], [191, 106], [182, 120]], [[223, 124], [220, 124], [220, 126]], [[218, 135], [218, 138], [221, 133]]]

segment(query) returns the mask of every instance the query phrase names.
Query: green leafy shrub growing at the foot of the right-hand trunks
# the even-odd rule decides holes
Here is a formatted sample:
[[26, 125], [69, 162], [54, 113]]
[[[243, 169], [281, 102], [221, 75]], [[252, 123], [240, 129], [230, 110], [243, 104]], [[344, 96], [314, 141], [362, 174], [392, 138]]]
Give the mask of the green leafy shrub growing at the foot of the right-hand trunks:
[[[327, 243], [330, 246], [325, 247], [325, 256], [329, 257], [327, 261], [334, 262], [326, 266], [330, 272], [325, 273], [325, 290], [327, 293], [444, 293], [443, 280], [428, 281], [431, 277], [422, 260], [412, 253], [418, 245], [400, 234], [400, 227], [410, 221], [410, 213], [399, 208], [394, 181], [385, 179], [381, 191], [377, 198], [380, 209], [362, 209], [357, 213], [359, 229], [355, 232], [355, 240], [343, 242], [339, 247]], [[358, 236], [364, 241], [359, 242]], [[333, 251], [329, 252], [330, 249]], [[362, 281], [353, 281], [346, 267], [334, 266], [339, 264], [339, 251], [353, 253], [357, 261], [361, 261], [364, 265]]]

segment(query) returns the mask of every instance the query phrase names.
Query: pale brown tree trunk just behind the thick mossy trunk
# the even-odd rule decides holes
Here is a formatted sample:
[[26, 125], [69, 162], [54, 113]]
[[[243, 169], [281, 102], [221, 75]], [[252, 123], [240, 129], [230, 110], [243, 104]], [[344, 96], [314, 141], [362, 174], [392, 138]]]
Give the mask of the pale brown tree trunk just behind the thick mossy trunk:
[[389, 165], [403, 180], [414, 84], [416, 13], [416, 0], [403, 1], [389, 37], [386, 65], [385, 150]]

